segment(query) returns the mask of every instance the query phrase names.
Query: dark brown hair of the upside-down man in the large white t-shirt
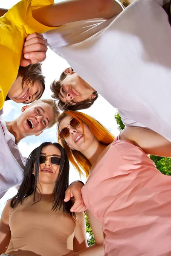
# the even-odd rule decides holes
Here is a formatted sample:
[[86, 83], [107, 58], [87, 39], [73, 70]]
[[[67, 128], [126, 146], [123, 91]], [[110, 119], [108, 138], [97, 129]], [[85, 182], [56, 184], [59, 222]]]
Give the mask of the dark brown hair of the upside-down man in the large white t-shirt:
[[[71, 67], [72, 68], [72, 67]], [[73, 70], [73, 69], [72, 69]], [[99, 94], [97, 92], [94, 92], [93, 94], [96, 95], [96, 98], [94, 99], [85, 99], [82, 102], [77, 102], [75, 105], [70, 105], [65, 102], [62, 102], [61, 99], [59, 98], [59, 90], [61, 88], [61, 81], [63, 81], [66, 78], [66, 74], [64, 72], [61, 73], [61, 76], [59, 80], [54, 80], [52, 84], [50, 85], [50, 89], [52, 91], [52, 98], [58, 100], [58, 108], [61, 110], [81, 110], [85, 108], [90, 108], [91, 105], [95, 102], [95, 100], [98, 98]]]

